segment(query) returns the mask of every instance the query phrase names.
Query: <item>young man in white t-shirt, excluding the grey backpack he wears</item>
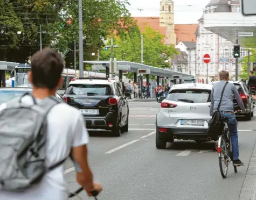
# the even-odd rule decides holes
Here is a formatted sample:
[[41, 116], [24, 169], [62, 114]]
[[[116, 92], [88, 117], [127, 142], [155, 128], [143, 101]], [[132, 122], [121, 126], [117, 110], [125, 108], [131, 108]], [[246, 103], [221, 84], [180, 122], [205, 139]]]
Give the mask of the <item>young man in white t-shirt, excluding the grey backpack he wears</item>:
[[[37, 102], [49, 96], [55, 96], [63, 83], [61, 73], [63, 59], [53, 49], [45, 48], [31, 58], [29, 81], [33, 85], [33, 96]], [[23, 97], [27, 104], [33, 105], [30, 96]], [[0, 105], [0, 110], [6, 104]], [[47, 115], [46, 167], [72, 155], [77, 169], [77, 182], [87, 191], [100, 192], [102, 187], [93, 182], [93, 174], [87, 161], [88, 133], [80, 111], [65, 103], [55, 105]], [[68, 191], [64, 179], [64, 164], [46, 173], [38, 184], [31, 185], [23, 192], [1, 191], [1, 200], [67, 200]]]

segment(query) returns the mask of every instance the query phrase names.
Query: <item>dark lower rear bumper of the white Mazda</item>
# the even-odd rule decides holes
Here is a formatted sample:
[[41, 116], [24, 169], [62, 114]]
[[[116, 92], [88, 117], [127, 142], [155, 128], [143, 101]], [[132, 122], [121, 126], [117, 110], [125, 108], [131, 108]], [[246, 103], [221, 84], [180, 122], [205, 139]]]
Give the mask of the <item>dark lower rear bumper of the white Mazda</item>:
[[[159, 131], [159, 128], [167, 128], [167, 132]], [[191, 127], [157, 127], [161, 138], [166, 140], [183, 139], [183, 140], [211, 140], [207, 134], [207, 128]]]

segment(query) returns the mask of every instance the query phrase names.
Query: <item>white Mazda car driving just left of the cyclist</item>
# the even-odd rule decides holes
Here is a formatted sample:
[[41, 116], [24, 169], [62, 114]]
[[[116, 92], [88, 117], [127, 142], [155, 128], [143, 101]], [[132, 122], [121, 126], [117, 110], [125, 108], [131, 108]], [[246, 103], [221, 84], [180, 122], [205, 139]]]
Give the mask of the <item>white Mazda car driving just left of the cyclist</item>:
[[211, 141], [207, 134], [212, 84], [174, 85], [167, 97], [158, 97], [156, 148], [165, 148], [175, 139]]

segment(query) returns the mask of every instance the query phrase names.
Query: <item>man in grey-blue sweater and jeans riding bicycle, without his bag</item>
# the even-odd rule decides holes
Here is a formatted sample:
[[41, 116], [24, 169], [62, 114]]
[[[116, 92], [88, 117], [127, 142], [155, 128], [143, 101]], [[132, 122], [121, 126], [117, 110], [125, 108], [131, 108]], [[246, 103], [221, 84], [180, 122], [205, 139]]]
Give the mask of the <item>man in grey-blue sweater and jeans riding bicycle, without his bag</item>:
[[[219, 82], [213, 84], [211, 92], [211, 108], [210, 116], [213, 115], [215, 110], [217, 110], [219, 105], [220, 96], [222, 94], [222, 89], [226, 82], [229, 81], [229, 72], [222, 70], [219, 73]], [[243, 100], [241, 99], [236, 86], [233, 83], [227, 83], [224, 90], [222, 102], [220, 103], [220, 114], [223, 117], [227, 117], [229, 122], [227, 126], [229, 127], [231, 142], [232, 142], [232, 153], [233, 153], [233, 166], [244, 166], [244, 163], [239, 160], [239, 149], [238, 149], [238, 134], [237, 134], [237, 119], [234, 115], [233, 98], [237, 99], [238, 105], [243, 112], [246, 112]], [[217, 141], [218, 145], [218, 141]]]

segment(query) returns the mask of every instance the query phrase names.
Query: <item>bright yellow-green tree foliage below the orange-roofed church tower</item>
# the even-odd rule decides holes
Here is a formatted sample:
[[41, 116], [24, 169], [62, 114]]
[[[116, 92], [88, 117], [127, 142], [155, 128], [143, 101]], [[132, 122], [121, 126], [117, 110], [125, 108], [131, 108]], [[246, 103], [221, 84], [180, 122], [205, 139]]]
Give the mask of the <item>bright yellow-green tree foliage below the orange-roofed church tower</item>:
[[[131, 62], [141, 63], [141, 34], [143, 35], [143, 61], [145, 65], [150, 65], [160, 68], [169, 68], [170, 63], [166, 62], [172, 55], [178, 54], [174, 46], [164, 45], [163, 39], [165, 35], [159, 31], [153, 30], [147, 26], [144, 32], [135, 29], [130, 32], [114, 38], [113, 45], [118, 45], [118, 48], [113, 49], [114, 58], [117, 60], [126, 60]], [[110, 45], [110, 39], [106, 45]], [[100, 52], [101, 60], [110, 60], [111, 53], [102, 48]], [[131, 77], [131, 75], [128, 75]]]

